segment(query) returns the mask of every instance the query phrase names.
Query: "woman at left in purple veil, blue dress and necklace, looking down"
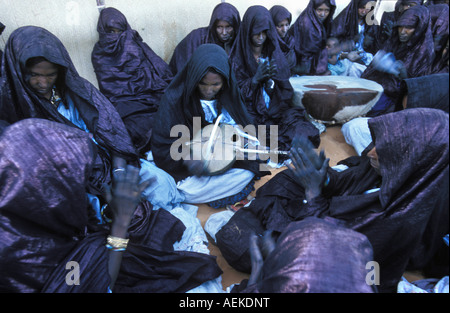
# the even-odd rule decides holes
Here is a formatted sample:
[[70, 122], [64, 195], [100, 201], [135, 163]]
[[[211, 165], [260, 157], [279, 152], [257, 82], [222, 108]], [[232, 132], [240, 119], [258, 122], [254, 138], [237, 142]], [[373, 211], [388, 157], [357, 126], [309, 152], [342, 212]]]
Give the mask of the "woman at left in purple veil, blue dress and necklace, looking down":
[[136, 164], [138, 156], [111, 102], [80, 77], [62, 42], [35, 26], [16, 29], [8, 38], [0, 83], [0, 119], [14, 123], [43, 118], [92, 134], [99, 147], [89, 181], [90, 193], [102, 195], [111, 180], [112, 157]]

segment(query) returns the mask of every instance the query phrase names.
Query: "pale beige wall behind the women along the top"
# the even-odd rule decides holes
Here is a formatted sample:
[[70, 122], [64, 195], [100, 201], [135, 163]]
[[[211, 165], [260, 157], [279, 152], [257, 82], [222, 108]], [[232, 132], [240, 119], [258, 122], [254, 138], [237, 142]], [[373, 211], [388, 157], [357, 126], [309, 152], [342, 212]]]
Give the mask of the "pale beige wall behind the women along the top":
[[[120, 10], [131, 27], [167, 62], [176, 44], [186, 34], [209, 24], [212, 10], [220, 2], [221, 0], [104, 0], [106, 7]], [[249, 6], [263, 5], [270, 9], [279, 4], [289, 9], [295, 20], [309, 0], [226, 2], [239, 10], [241, 18]], [[336, 0], [337, 13], [348, 2], [349, 0]], [[383, 0], [380, 9], [392, 11], [394, 3], [393, 0]], [[90, 56], [98, 40], [98, 15], [96, 0], [0, 0], [0, 22], [6, 26], [0, 36], [0, 49], [4, 49], [8, 36], [17, 27], [44, 27], [63, 42], [80, 75], [97, 86]]]

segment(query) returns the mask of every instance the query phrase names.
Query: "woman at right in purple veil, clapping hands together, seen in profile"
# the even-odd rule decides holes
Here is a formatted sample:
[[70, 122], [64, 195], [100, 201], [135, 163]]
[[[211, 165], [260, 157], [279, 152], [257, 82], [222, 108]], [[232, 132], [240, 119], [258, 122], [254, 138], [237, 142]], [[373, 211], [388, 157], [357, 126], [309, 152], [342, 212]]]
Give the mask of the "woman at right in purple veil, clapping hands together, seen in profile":
[[381, 292], [395, 292], [405, 270], [425, 267], [449, 231], [448, 114], [409, 109], [373, 118], [369, 127], [373, 148], [345, 160], [349, 167], [340, 172], [299, 141], [290, 170], [259, 188], [246, 210], [215, 235], [228, 263], [249, 271], [252, 232], [283, 232], [291, 222], [316, 216], [337, 218], [367, 236], [381, 269]]

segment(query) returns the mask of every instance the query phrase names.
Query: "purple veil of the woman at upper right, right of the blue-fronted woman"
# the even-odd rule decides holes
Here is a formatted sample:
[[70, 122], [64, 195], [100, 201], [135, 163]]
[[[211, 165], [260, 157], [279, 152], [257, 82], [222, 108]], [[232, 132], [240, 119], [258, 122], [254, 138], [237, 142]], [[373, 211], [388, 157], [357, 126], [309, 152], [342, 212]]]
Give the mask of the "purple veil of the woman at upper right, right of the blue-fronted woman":
[[[398, 27], [414, 27], [411, 39], [402, 44], [399, 40]], [[408, 77], [419, 77], [431, 72], [434, 59], [433, 36], [431, 33], [430, 13], [422, 5], [411, 7], [397, 19], [392, 36], [386, 41], [383, 50], [392, 52], [396, 60], [400, 60], [406, 67]], [[369, 65], [361, 78], [378, 82], [384, 88], [384, 93], [392, 98], [399, 96], [399, 80], [392, 74], [379, 72]]]

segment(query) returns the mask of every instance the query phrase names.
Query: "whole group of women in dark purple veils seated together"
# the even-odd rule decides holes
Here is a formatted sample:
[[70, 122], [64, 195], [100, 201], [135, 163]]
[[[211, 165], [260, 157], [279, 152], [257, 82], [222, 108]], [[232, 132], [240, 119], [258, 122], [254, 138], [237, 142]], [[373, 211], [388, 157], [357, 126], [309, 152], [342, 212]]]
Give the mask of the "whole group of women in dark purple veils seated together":
[[[433, 83], [448, 83], [448, 4], [399, 0], [377, 26], [367, 23], [368, 2], [352, 0], [334, 17], [334, 0], [310, 0], [290, 28], [282, 6], [251, 6], [241, 20], [220, 3], [169, 63], [105, 8], [92, 51], [99, 90], [53, 34], [14, 30], [0, 81], [0, 291], [205, 286], [222, 271], [207, 253], [174, 248], [192, 225], [173, 208], [241, 200], [212, 234], [228, 263], [250, 274], [234, 292], [395, 292], [409, 269], [448, 275], [448, 86], [445, 104]], [[403, 64], [402, 75], [366, 64], [361, 77], [384, 95], [367, 122], [370, 144], [340, 162], [345, 170], [316, 153], [319, 128], [291, 105], [292, 75], [330, 74], [330, 37], [357, 50], [355, 61], [383, 49]], [[424, 77], [436, 93], [415, 80]], [[416, 104], [402, 109], [405, 95]], [[218, 120], [277, 126], [277, 147], [289, 151], [280, 160], [288, 170], [252, 201], [267, 160], [209, 175], [189, 157], [196, 130]], [[67, 264], [79, 266], [78, 283]]]

